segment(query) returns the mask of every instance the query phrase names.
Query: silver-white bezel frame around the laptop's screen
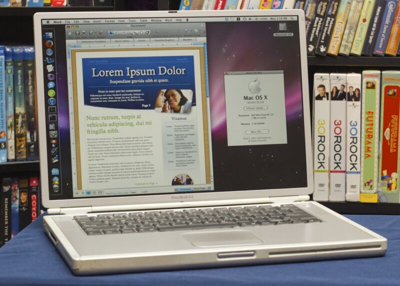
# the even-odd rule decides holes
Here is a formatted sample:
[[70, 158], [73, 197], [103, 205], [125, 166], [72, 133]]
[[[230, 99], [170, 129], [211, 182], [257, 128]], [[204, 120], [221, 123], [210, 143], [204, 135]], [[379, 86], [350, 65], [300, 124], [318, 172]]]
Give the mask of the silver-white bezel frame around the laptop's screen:
[[[300, 9], [285, 10], [212, 10], [212, 11], [113, 11], [113, 12], [48, 12], [36, 13], [33, 16], [34, 24], [34, 43], [36, 59], [36, 86], [37, 94], [44, 94], [43, 79], [43, 55], [41, 50], [41, 21], [43, 19], [83, 19], [83, 18], [155, 18], [155, 17], [230, 17], [230, 16], [298, 16], [299, 35], [305, 35], [304, 12]], [[311, 145], [311, 122], [308, 94], [308, 71], [305, 36], [299, 37], [300, 40], [300, 63], [301, 63], [301, 86], [303, 119], [305, 132], [305, 158], [307, 187], [292, 189], [264, 189], [264, 190], [241, 190], [223, 192], [204, 192], [190, 193], [190, 196], [182, 196], [177, 200], [177, 194], [145, 195], [145, 196], [121, 196], [105, 198], [79, 198], [66, 200], [50, 200], [48, 186], [48, 160], [46, 144], [39, 144], [40, 157], [40, 186], [41, 200], [46, 208], [71, 208], [89, 206], [121, 206], [121, 205], [141, 205], [141, 204], [160, 204], [196, 201], [221, 201], [255, 199], [267, 197], [284, 197], [296, 195], [309, 195], [313, 192], [313, 173], [312, 173], [312, 145]], [[45, 102], [44, 96], [37, 97], [38, 124], [45, 126]], [[46, 142], [45, 128], [39, 128], [39, 141]]]

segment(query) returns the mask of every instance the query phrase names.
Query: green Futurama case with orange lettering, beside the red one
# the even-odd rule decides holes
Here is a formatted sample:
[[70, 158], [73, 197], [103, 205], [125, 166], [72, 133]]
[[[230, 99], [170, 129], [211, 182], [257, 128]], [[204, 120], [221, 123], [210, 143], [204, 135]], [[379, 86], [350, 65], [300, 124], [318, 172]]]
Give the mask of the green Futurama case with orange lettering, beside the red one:
[[377, 203], [380, 71], [362, 72], [361, 203]]

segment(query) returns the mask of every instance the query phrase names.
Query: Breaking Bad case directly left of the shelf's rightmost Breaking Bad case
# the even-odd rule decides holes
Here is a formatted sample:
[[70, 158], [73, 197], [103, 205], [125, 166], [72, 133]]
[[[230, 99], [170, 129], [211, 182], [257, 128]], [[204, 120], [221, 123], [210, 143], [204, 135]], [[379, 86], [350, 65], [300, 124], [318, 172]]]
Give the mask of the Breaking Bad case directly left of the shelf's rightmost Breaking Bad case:
[[15, 159], [26, 160], [26, 110], [23, 88], [23, 48], [13, 47], [14, 60], [14, 100], [15, 100]]

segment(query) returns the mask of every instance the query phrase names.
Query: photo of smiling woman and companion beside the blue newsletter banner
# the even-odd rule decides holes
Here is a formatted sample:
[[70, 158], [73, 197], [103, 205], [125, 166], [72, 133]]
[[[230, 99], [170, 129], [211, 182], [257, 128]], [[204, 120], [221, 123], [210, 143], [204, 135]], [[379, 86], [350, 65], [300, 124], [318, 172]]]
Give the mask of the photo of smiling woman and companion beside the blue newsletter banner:
[[162, 113], [189, 113], [193, 92], [190, 89], [161, 89], [154, 110]]

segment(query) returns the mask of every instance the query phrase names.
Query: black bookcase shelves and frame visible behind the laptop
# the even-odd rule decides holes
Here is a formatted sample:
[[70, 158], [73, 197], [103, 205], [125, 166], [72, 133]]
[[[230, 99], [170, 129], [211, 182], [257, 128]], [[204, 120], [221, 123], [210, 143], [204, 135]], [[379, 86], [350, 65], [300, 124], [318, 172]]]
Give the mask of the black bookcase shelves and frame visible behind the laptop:
[[[114, 0], [113, 6], [100, 7], [6, 7], [0, 8], [0, 42], [33, 44], [32, 16], [36, 12], [113, 11], [140, 9], [143, 2], [149, 9], [177, 10], [180, 0], [124, 1]], [[15, 19], [17, 17], [17, 20]], [[309, 91], [312, 95], [312, 78], [315, 72], [360, 72], [365, 69], [395, 69], [400, 67], [400, 57], [320, 57], [307, 56]], [[312, 104], [312, 96], [310, 96]], [[311, 109], [312, 110], [312, 109]], [[39, 171], [39, 162], [9, 162], [0, 164], [0, 176]], [[322, 202], [341, 214], [400, 214], [400, 204], [366, 204], [350, 202]]]

